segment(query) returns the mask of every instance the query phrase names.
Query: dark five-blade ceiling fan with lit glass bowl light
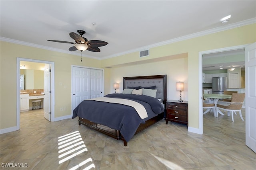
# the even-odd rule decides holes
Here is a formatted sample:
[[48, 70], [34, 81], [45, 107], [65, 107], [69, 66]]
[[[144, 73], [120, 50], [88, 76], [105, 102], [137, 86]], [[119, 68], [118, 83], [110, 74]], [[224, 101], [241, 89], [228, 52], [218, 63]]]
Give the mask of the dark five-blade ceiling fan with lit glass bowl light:
[[82, 37], [82, 35], [85, 34], [84, 30], [77, 30], [77, 33], [69, 33], [70, 37], [76, 41], [76, 43], [68, 42], [68, 41], [58, 41], [58, 40], [47, 40], [47, 41], [53, 41], [57, 43], [68, 43], [68, 44], [74, 44], [73, 47], [70, 47], [69, 51], [76, 51], [80, 50], [81, 52], [84, 50], [92, 51], [92, 52], [100, 52], [100, 49], [98, 47], [102, 47], [104, 45], [107, 45], [108, 43], [105, 41], [100, 40], [90, 40], [88, 41], [86, 38]]

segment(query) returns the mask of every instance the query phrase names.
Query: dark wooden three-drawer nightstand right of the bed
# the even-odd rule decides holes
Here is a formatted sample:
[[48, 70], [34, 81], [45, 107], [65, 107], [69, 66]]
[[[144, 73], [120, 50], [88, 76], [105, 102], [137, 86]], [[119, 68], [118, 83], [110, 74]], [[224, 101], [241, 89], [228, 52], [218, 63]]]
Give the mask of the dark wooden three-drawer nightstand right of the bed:
[[168, 121], [174, 121], [188, 126], [188, 101], [168, 100], [166, 110], [166, 125]]

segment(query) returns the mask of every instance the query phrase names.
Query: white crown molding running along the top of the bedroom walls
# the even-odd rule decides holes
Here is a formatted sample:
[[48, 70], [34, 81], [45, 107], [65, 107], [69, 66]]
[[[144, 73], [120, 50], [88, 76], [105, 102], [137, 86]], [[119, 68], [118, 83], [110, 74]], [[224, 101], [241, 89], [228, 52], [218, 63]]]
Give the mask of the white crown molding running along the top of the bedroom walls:
[[[132, 49], [130, 51], [124, 51], [123, 53], [116, 53], [114, 55], [109, 55], [109, 56], [106, 56], [106, 57], [93, 57], [93, 56], [89, 56], [89, 55], [85, 56], [83, 54], [82, 54], [82, 57], [88, 57], [88, 58], [97, 59], [97, 60], [110, 59], [110, 58], [113, 58], [113, 57], [118, 57], [120, 55], [126, 55], [126, 54], [130, 54], [130, 53], [142, 51], [142, 50], [145, 50], [145, 49], [150, 49], [150, 48], [159, 47], [159, 46], [162, 46], [162, 45], [176, 43], [176, 42], [179, 42], [179, 41], [184, 41], [184, 40], [187, 40], [187, 39], [192, 39], [192, 38], [200, 37], [200, 36], [203, 36], [203, 35], [208, 35], [208, 34], [220, 32], [220, 31], [225, 31], [225, 30], [228, 30], [228, 29], [236, 28], [236, 27], [242, 27], [244, 25], [250, 25], [250, 24], [253, 24], [253, 23], [256, 23], [256, 18], [251, 18], [251, 19], [248, 19], [248, 20], [240, 21], [240, 22], [237, 22], [237, 23], [232, 23], [232, 24], [229, 24], [229, 25], [222, 25], [220, 27], [216, 27], [216, 28], [213, 28], [213, 29], [208, 29], [208, 30], [205, 30], [205, 31], [200, 31], [200, 32], [197, 32], [197, 33], [193, 33], [193, 34], [190, 34], [190, 35], [185, 35], [185, 36], [170, 39], [170, 40], [167, 40], [167, 41], [154, 43], [152, 45], [147, 45], [147, 46], [144, 46], [144, 47]], [[43, 46], [43, 45], [37, 45], [37, 44], [28, 43], [28, 42], [24, 42], [24, 41], [18, 41], [18, 40], [15, 40], [15, 39], [9, 39], [9, 38], [5, 38], [5, 37], [0, 37], [0, 40], [1, 41], [6, 41], [6, 42], [9, 42], [9, 43], [15, 43], [15, 44], [26, 45], [26, 46], [30, 46], [30, 47], [36, 47], [36, 48], [40, 48], [40, 49], [46, 49], [46, 50], [50, 50], [50, 51], [56, 51], [56, 52], [60, 52], [60, 53], [66, 53], [66, 54], [81, 56], [81, 55], [78, 55], [77, 53], [72, 53], [70, 51], [51, 48], [51, 47], [46, 47], [46, 46]]]

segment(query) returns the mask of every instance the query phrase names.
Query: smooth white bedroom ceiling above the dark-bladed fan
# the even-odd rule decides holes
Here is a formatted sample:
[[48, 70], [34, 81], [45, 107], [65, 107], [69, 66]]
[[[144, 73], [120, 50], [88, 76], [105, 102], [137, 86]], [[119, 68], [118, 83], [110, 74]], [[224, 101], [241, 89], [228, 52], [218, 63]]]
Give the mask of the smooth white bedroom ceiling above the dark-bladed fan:
[[[68, 51], [71, 44], [47, 40], [74, 42], [69, 33], [82, 29], [88, 40], [109, 43], [100, 47], [100, 53], [83, 52], [97, 59], [256, 22], [255, 0], [1, 0], [0, 11], [2, 41], [80, 55]], [[222, 25], [220, 19], [230, 14], [229, 22]]]

